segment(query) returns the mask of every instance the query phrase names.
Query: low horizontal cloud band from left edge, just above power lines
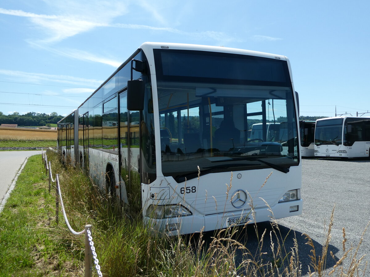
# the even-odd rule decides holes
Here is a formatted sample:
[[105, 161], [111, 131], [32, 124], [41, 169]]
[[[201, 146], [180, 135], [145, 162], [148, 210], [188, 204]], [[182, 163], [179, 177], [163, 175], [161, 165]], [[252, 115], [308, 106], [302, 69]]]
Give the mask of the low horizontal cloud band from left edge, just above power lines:
[[88, 87], [98, 87], [101, 85], [101, 80], [94, 79], [84, 79], [68, 75], [50, 75], [44, 73], [31, 73], [24, 71], [13, 71], [0, 69], [0, 75], [6, 75], [9, 78], [15, 79], [17, 82], [30, 82], [30, 83], [43, 83], [53, 82], [69, 84], [73, 86], [88, 86]]

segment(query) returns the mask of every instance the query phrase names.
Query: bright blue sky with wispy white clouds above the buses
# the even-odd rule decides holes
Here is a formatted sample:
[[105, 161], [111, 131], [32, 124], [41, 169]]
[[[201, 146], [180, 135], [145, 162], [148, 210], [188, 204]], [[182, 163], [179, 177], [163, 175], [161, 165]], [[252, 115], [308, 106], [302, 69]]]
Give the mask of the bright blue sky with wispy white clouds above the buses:
[[285, 55], [300, 115], [370, 112], [369, 10], [369, 1], [2, 1], [0, 111], [66, 115], [153, 41]]

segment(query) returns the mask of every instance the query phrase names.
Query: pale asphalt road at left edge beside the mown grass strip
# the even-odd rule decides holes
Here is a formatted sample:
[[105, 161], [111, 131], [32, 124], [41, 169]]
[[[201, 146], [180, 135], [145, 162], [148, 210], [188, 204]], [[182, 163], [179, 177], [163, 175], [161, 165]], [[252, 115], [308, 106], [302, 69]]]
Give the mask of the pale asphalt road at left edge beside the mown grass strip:
[[41, 151], [0, 151], [0, 203], [24, 160], [37, 154]]

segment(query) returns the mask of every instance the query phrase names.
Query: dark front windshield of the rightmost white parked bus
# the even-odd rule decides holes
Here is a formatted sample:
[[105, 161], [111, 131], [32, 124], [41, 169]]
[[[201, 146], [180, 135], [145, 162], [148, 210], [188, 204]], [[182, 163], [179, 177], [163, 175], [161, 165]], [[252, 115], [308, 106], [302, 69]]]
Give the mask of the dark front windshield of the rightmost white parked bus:
[[317, 120], [315, 145], [342, 144], [343, 118]]

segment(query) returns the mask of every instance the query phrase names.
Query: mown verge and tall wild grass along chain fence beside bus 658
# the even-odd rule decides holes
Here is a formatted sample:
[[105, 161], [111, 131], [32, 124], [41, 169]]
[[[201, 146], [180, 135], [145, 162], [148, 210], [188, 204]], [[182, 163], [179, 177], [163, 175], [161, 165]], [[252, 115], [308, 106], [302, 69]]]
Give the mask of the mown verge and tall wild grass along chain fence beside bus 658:
[[[145, 228], [140, 213], [129, 212], [109, 195], [102, 195], [81, 171], [64, 168], [51, 151], [48, 159], [54, 174], [60, 174], [64, 206], [72, 228], [80, 231], [86, 224], [93, 226], [92, 237], [103, 276], [294, 277], [307, 273], [300, 267], [302, 257], [298, 255], [297, 242], [286, 249], [285, 238], [279, 237], [274, 222], [273, 232], [260, 237], [260, 251], [256, 253], [250, 253], [248, 245], [237, 239], [245, 226], [217, 231], [209, 239], [202, 233], [192, 237], [156, 235]], [[48, 193], [43, 170], [40, 155], [28, 160], [0, 215], [0, 276], [84, 275], [84, 236], [68, 231], [61, 212], [60, 223], [56, 225], [55, 196]], [[332, 224], [333, 215], [320, 253], [315, 253], [307, 236], [307, 244], [312, 246], [310, 276], [328, 276], [324, 269], [330, 255], [327, 251]], [[273, 237], [278, 238], [275, 245]], [[263, 243], [271, 243], [269, 253], [262, 252]], [[343, 248], [345, 244], [344, 232]], [[346, 247], [330, 275], [366, 276], [366, 266], [356, 256], [356, 246]], [[245, 252], [238, 263], [236, 249]], [[349, 266], [343, 266], [344, 260], [349, 260], [346, 263]]]

